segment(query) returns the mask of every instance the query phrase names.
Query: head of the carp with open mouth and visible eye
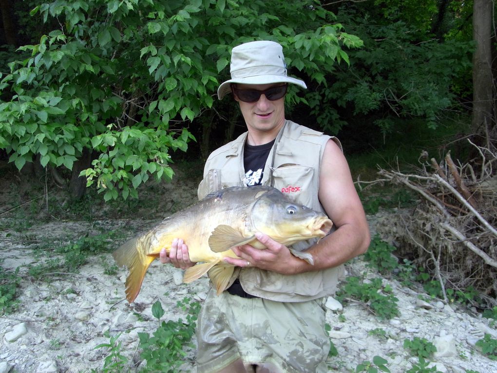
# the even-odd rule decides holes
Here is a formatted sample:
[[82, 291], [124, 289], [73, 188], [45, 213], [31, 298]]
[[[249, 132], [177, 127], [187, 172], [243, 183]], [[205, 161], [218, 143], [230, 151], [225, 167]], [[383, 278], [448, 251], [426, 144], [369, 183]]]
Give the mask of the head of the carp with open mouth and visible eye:
[[333, 225], [326, 214], [292, 202], [277, 189], [258, 198], [252, 208], [251, 221], [256, 231], [284, 245], [323, 238]]

